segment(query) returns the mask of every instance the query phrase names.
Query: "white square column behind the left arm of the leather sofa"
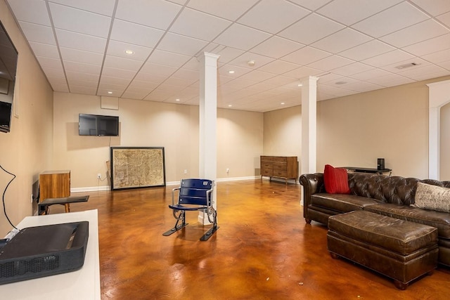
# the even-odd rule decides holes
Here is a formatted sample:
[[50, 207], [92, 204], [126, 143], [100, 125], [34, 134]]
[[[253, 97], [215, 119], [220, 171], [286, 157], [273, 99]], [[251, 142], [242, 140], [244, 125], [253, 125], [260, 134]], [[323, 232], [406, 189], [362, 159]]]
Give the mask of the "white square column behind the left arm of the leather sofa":
[[301, 174], [316, 172], [317, 80], [309, 76], [302, 82], [302, 168]]

